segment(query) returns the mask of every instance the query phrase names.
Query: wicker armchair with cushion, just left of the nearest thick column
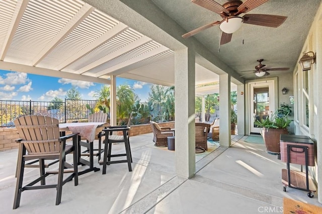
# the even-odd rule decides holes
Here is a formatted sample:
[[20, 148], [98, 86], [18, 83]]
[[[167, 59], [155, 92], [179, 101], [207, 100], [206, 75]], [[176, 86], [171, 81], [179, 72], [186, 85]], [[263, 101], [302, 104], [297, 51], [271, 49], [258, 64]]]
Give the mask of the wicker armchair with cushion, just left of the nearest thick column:
[[175, 136], [175, 131], [169, 127], [160, 127], [156, 122], [150, 121], [155, 146], [168, 146], [168, 137]]

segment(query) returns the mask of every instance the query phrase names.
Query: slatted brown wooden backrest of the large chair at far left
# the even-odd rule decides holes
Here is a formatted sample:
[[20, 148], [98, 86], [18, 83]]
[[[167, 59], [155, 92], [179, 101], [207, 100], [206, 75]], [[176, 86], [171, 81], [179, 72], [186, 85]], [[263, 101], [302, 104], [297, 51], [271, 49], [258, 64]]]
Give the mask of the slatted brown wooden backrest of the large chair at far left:
[[57, 119], [42, 115], [28, 115], [17, 118], [14, 123], [28, 154], [60, 152]]

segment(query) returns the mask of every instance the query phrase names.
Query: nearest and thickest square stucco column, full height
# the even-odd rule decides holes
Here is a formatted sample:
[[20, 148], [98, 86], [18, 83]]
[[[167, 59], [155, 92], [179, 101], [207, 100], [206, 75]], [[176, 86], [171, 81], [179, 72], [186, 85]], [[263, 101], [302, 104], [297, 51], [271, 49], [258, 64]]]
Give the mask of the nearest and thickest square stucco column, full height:
[[176, 173], [189, 178], [195, 163], [195, 53], [175, 52]]

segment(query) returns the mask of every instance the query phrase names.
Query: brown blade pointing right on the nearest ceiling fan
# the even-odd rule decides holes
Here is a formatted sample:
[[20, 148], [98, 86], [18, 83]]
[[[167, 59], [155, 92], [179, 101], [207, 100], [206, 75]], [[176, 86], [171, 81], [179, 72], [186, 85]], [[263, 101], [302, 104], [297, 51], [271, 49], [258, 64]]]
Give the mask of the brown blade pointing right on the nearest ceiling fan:
[[287, 17], [267, 14], [246, 14], [243, 19], [246, 24], [277, 28]]

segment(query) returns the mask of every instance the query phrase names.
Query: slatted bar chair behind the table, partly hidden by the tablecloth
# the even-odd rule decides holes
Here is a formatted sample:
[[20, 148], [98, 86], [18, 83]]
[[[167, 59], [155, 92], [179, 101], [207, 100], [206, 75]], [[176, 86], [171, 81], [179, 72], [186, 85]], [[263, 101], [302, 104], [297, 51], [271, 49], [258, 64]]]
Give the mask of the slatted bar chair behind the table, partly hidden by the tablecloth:
[[[104, 123], [107, 123], [107, 119], [108, 119], [108, 114], [103, 113], [102, 111], [100, 111], [100, 112], [97, 112], [97, 113], [94, 113], [94, 114], [90, 114], [89, 118], [88, 118], [88, 122], [104, 122]], [[98, 156], [98, 160], [101, 159], [101, 154], [104, 151], [104, 149], [102, 149], [102, 136], [104, 135], [104, 134], [102, 134], [103, 128], [106, 128], [106, 127], [98, 127], [96, 129], [96, 132], [95, 132], [95, 139], [99, 140], [99, 146], [98, 146], [98, 149], [93, 149], [93, 151], [97, 151], [97, 153], [94, 154], [94, 155]], [[89, 152], [90, 152], [89, 147], [91, 146], [90, 142], [88, 140], [87, 140], [87, 142], [80, 141], [79, 145], [78, 145], [78, 149], [81, 149], [80, 148], [81, 146], [84, 146], [84, 147], [87, 148], [87, 150], [83, 151], [81, 155], [88, 155], [89, 156]]]

